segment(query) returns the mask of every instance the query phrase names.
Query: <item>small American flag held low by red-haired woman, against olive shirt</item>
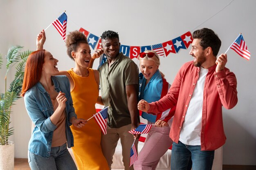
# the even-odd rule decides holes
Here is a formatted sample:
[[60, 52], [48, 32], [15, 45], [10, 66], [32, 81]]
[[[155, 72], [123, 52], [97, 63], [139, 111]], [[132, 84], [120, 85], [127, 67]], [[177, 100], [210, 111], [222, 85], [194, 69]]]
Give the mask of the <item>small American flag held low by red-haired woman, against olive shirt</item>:
[[103, 108], [98, 113], [94, 114], [94, 119], [99, 124], [104, 135], [107, 134], [107, 118], [108, 118], [108, 107]]

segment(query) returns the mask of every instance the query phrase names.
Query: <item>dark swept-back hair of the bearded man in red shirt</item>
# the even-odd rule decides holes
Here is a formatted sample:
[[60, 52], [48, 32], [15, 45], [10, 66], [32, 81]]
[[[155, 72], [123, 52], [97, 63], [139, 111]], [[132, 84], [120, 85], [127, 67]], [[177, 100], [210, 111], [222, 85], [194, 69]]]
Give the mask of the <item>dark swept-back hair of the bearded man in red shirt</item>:
[[211, 47], [213, 51], [213, 55], [217, 56], [221, 46], [221, 40], [213, 30], [208, 28], [199, 29], [193, 32], [192, 34], [193, 39], [200, 40], [200, 46], [203, 49], [207, 47]]

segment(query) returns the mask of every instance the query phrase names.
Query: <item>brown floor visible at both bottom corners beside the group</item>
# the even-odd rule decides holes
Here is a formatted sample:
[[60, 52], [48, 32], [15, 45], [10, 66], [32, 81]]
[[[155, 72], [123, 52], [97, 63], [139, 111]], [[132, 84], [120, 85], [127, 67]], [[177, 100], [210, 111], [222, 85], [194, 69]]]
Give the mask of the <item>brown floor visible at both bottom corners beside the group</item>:
[[[14, 170], [30, 170], [27, 159], [14, 158]], [[256, 170], [256, 166], [223, 165], [222, 170]]]

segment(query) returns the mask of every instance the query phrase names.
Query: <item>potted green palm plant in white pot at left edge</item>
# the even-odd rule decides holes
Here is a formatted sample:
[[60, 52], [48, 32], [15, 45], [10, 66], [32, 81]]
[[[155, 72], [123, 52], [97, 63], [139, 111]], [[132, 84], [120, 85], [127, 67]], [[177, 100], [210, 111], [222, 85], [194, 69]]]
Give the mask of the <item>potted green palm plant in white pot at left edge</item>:
[[[7, 52], [6, 74], [4, 77], [4, 93], [0, 93], [0, 170], [13, 170], [14, 168], [14, 144], [9, 141], [13, 135], [13, 127], [9, 127], [11, 107], [20, 98], [22, 89], [24, 69], [27, 57], [32, 51], [23, 51], [22, 46], [11, 46]], [[3, 65], [3, 58], [0, 54], [0, 69]], [[16, 67], [16, 73], [7, 89], [7, 74]], [[11, 77], [11, 76], [9, 76]], [[1, 78], [0, 78], [1, 79]]]

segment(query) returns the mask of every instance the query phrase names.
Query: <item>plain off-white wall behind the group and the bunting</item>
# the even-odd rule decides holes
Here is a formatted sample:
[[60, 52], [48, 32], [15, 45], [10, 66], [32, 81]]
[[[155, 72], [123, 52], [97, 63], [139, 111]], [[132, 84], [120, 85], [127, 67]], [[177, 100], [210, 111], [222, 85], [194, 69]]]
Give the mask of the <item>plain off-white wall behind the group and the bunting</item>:
[[[0, 52], [5, 55], [9, 46], [15, 44], [35, 50], [38, 32], [64, 10], [68, 16], [67, 31], [83, 27], [100, 36], [103, 31], [113, 30], [119, 33], [121, 44], [132, 46], [162, 43], [187, 31], [208, 27], [218, 33], [222, 40], [220, 53], [224, 53], [241, 32], [252, 56], [248, 62], [232, 50], [227, 53], [227, 67], [238, 80], [238, 104], [231, 110], [223, 108], [227, 136], [223, 164], [256, 165], [256, 1], [234, 0], [223, 9], [229, 2], [231, 0], [73, 0], [72, 3], [68, 0], [0, 0]], [[50, 26], [46, 35], [44, 47], [59, 60], [59, 70], [74, 67], [56, 29]], [[189, 49], [161, 58], [160, 70], [170, 83], [180, 66], [192, 60]], [[3, 74], [1, 70], [0, 91], [4, 86]], [[15, 157], [25, 158], [30, 119], [23, 99], [14, 106], [12, 118]]]

